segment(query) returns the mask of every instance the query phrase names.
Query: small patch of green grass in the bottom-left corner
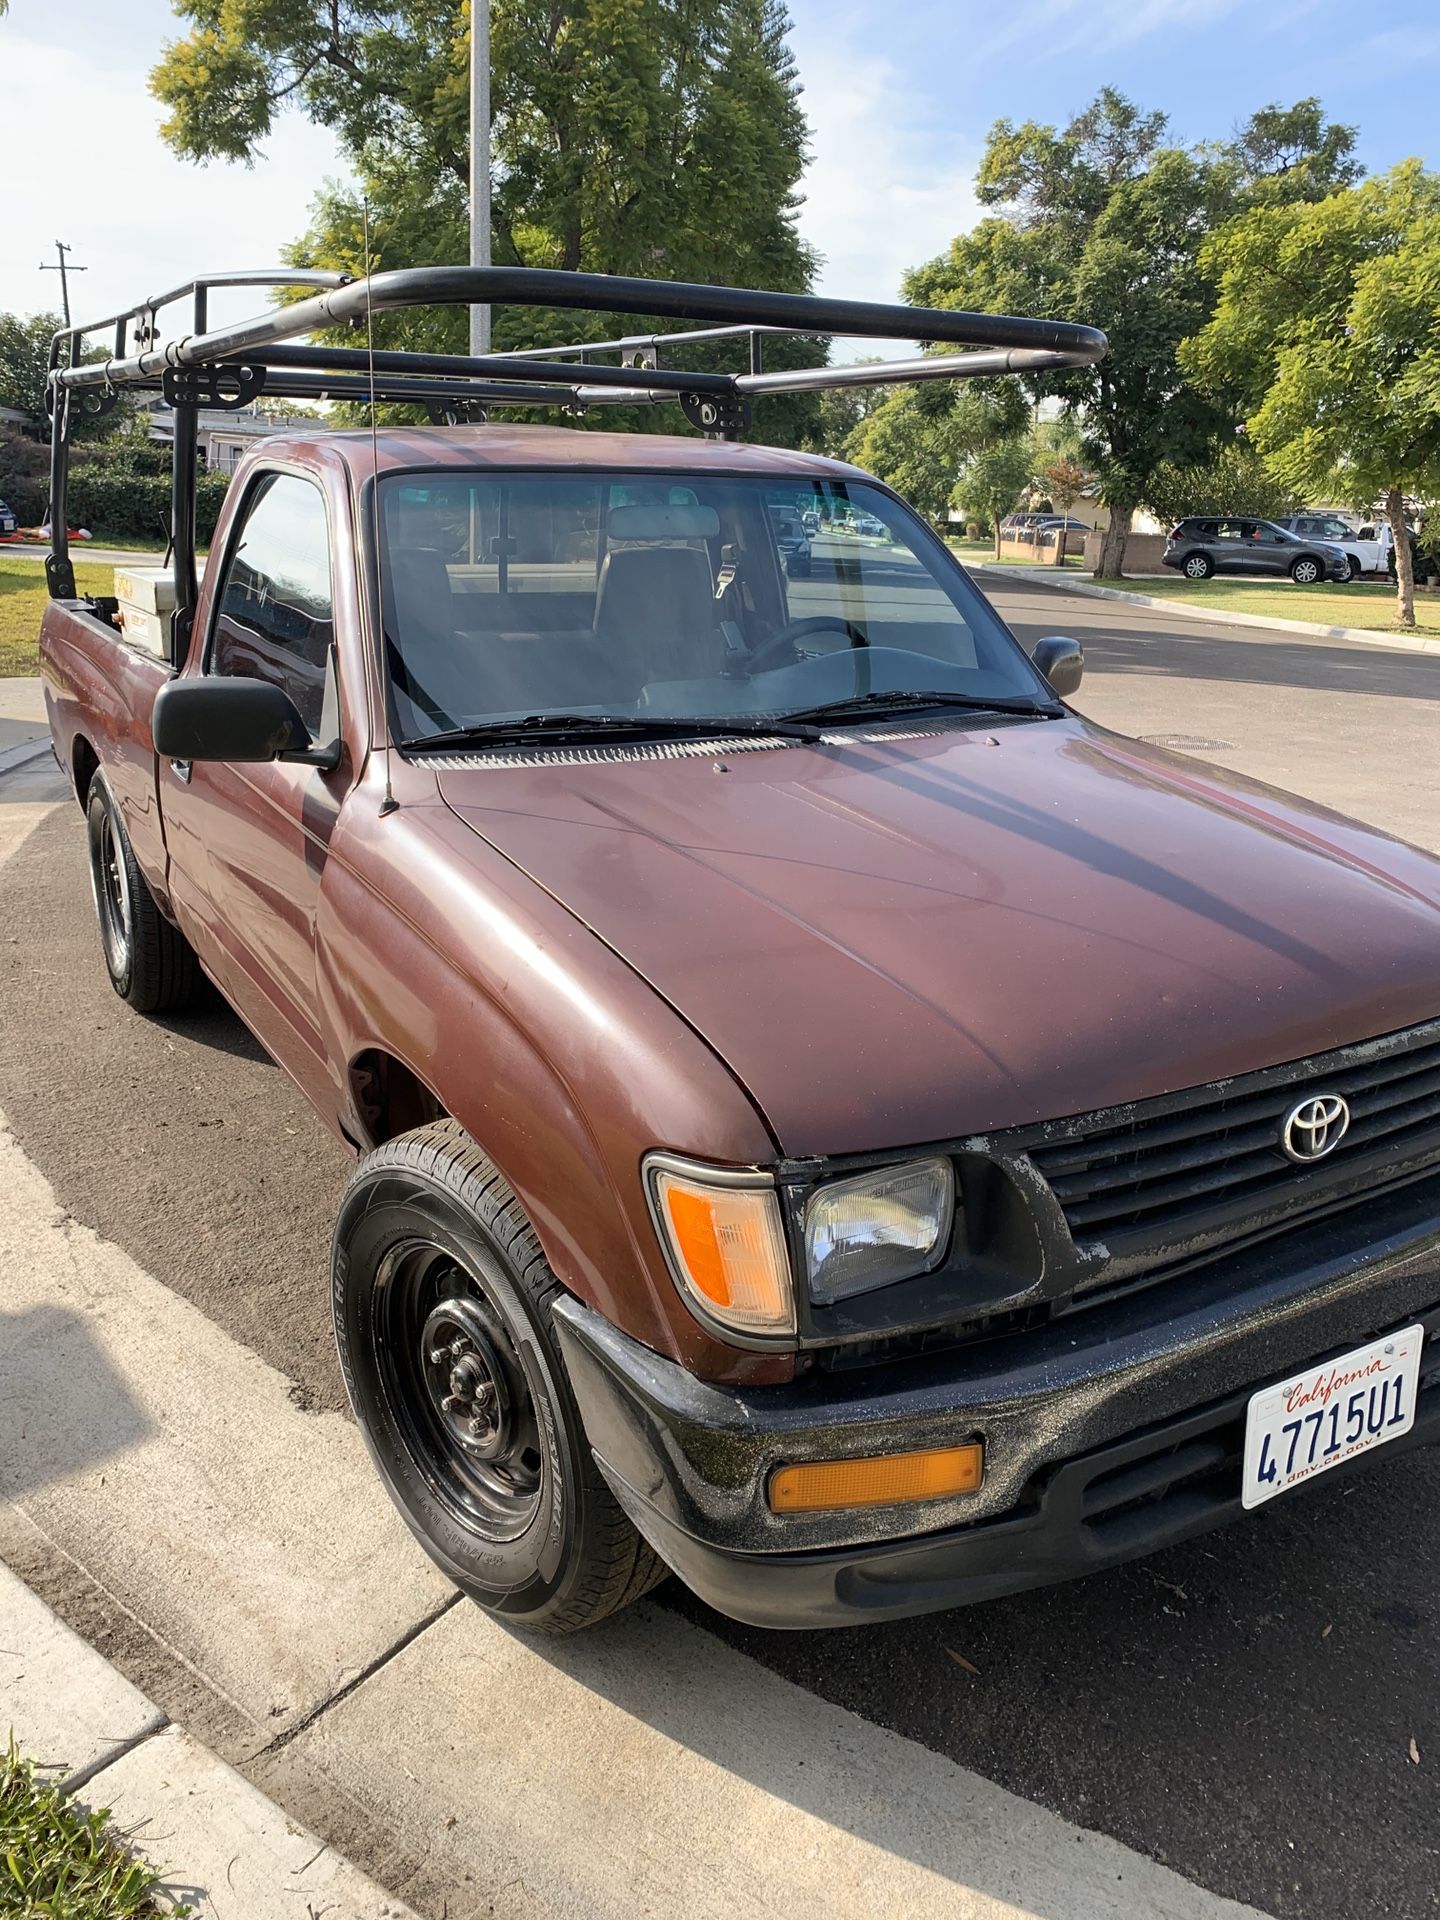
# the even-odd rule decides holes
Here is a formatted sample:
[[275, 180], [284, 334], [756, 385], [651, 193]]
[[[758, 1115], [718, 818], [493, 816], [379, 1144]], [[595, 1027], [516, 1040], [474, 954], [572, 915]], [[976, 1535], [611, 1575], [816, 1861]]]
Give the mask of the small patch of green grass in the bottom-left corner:
[[182, 1920], [157, 1899], [157, 1876], [102, 1812], [67, 1801], [35, 1763], [0, 1753], [0, 1914], [46, 1920]]

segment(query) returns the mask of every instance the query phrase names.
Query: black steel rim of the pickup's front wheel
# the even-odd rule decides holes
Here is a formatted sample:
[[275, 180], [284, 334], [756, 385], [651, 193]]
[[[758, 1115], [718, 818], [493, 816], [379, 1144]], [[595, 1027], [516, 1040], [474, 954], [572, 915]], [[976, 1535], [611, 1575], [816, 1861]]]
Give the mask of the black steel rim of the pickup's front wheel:
[[534, 1386], [484, 1275], [447, 1246], [407, 1240], [376, 1286], [376, 1361], [405, 1452], [449, 1517], [516, 1540], [545, 1490]]

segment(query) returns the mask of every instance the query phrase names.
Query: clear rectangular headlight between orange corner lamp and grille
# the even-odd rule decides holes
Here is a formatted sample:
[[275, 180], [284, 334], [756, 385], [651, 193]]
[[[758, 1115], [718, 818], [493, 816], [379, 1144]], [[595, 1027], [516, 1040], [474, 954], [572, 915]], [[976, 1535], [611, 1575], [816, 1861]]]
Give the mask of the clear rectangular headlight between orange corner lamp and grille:
[[954, 1221], [948, 1160], [910, 1160], [818, 1187], [804, 1208], [810, 1298], [822, 1304], [929, 1273]]

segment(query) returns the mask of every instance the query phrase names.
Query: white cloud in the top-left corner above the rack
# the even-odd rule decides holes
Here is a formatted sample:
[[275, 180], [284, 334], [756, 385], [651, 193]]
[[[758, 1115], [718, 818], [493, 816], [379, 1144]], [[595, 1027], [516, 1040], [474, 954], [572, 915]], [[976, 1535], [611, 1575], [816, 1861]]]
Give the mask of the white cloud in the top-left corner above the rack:
[[[284, 242], [305, 228], [311, 196], [344, 171], [330, 134], [288, 115], [253, 167], [194, 167], [159, 138], [146, 86], [157, 44], [123, 19], [113, 31], [61, 36], [58, 10], [46, 12], [44, 27], [35, 8], [17, 8], [0, 27], [12, 157], [0, 309], [60, 311], [60, 275], [38, 271], [54, 261], [56, 238], [86, 269], [71, 278], [77, 321], [196, 273], [278, 265]], [[242, 319], [259, 305], [255, 292], [215, 296], [211, 319]]]

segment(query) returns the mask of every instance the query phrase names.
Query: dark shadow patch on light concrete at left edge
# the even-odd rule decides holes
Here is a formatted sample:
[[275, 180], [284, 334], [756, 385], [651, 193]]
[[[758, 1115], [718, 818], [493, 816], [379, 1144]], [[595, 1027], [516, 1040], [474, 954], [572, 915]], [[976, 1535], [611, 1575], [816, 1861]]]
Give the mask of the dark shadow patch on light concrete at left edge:
[[152, 1432], [83, 1315], [0, 1311], [0, 1498], [92, 1475]]

